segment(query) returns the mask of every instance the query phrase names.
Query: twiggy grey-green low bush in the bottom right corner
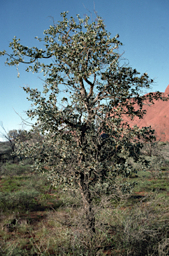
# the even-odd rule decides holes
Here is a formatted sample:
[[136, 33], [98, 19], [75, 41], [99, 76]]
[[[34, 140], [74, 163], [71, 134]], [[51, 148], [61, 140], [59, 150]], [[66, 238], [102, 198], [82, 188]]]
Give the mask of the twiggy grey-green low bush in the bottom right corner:
[[168, 255], [168, 209], [168, 199], [156, 194], [123, 211], [119, 218], [122, 228], [116, 233], [116, 249], [124, 250], [120, 255]]

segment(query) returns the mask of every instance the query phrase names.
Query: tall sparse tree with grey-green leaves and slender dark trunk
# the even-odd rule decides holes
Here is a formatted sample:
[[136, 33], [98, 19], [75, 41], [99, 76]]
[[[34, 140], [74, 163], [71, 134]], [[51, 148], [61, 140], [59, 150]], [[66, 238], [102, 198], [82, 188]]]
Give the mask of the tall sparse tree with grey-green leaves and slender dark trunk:
[[[43, 140], [23, 147], [23, 154], [37, 156], [35, 167], [47, 171], [53, 185], [80, 191], [86, 229], [95, 233], [94, 199], [111, 195], [116, 177], [134, 171], [128, 157], [146, 163], [140, 138], [154, 139], [150, 127], [130, 127], [122, 115], [142, 118], [143, 103], [162, 96], [159, 92], [142, 96], [152, 79], [124, 64], [119, 36], [110, 37], [101, 17], [90, 22], [88, 16], [77, 15], [75, 20], [67, 19], [67, 14], [61, 13], [63, 21], [44, 31], [44, 39], [37, 38], [44, 49], [25, 47], [14, 37], [9, 44], [13, 53], [1, 55], [8, 55], [8, 65], [29, 63], [26, 71], [43, 72], [42, 93], [23, 87], [32, 101], [27, 115], [36, 119], [33, 131], [43, 134]], [[130, 186], [121, 183], [122, 193]]]

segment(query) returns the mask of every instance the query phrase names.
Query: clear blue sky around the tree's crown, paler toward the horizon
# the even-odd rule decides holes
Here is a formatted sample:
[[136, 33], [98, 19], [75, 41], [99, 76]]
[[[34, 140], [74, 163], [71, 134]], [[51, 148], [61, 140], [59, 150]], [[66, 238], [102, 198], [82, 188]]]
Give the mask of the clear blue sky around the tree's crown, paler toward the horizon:
[[[90, 14], [87, 9], [94, 15], [94, 8], [112, 37], [120, 35], [120, 51], [129, 65], [154, 79], [152, 91], [164, 92], [169, 84], [168, 0], [1, 0], [0, 51], [10, 51], [14, 36], [25, 46], [41, 48], [35, 37], [43, 37], [43, 31], [53, 25], [51, 17], [59, 21], [63, 11], [69, 11], [69, 17], [83, 17]], [[19, 65], [17, 78], [16, 67], [5, 66], [5, 60], [0, 57], [0, 121], [7, 131], [27, 129], [21, 125], [21, 117], [27, 118], [24, 111], [30, 101], [21, 87], [42, 89], [43, 82], [38, 74], [25, 72], [24, 65]]]

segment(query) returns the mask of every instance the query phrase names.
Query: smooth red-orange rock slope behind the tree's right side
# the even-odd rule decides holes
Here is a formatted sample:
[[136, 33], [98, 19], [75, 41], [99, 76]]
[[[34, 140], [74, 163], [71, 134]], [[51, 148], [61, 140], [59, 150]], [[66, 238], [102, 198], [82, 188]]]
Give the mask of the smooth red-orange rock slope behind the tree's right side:
[[[169, 85], [166, 87], [165, 92], [162, 93], [162, 96], [168, 97], [168, 95]], [[124, 117], [123, 120], [127, 121], [130, 126], [137, 125], [140, 128], [151, 125], [152, 129], [156, 131], [157, 141], [169, 141], [169, 101], [154, 100], [154, 104], [145, 104], [143, 109], [146, 109], [146, 115], [144, 115], [143, 119], [136, 117], [131, 121]]]

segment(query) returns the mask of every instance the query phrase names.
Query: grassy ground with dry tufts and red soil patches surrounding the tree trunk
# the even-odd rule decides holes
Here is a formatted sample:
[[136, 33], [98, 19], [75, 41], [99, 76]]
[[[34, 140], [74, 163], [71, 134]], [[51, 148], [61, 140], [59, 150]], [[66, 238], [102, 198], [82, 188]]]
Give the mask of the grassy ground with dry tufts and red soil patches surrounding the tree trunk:
[[[1, 211], [0, 255], [169, 255], [167, 160], [162, 168], [161, 175], [153, 179], [150, 172], [143, 171], [137, 178], [132, 177], [138, 185], [131, 194], [122, 195], [117, 181], [116, 193], [102, 196], [94, 208], [96, 235], [85, 228], [80, 197], [53, 190], [44, 178], [37, 177], [32, 184], [29, 179], [30, 190], [36, 187], [39, 196], [35, 197], [34, 208]], [[1, 180], [0, 189], [7, 193], [9, 186], [5, 181], [7, 177]], [[15, 190], [17, 182], [16, 179], [13, 184]], [[27, 185], [23, 179], [21, 182]], [[19, 187], [19, 191], [21, 189]], [[12, 195], [13, 191], [9, 191]]]

